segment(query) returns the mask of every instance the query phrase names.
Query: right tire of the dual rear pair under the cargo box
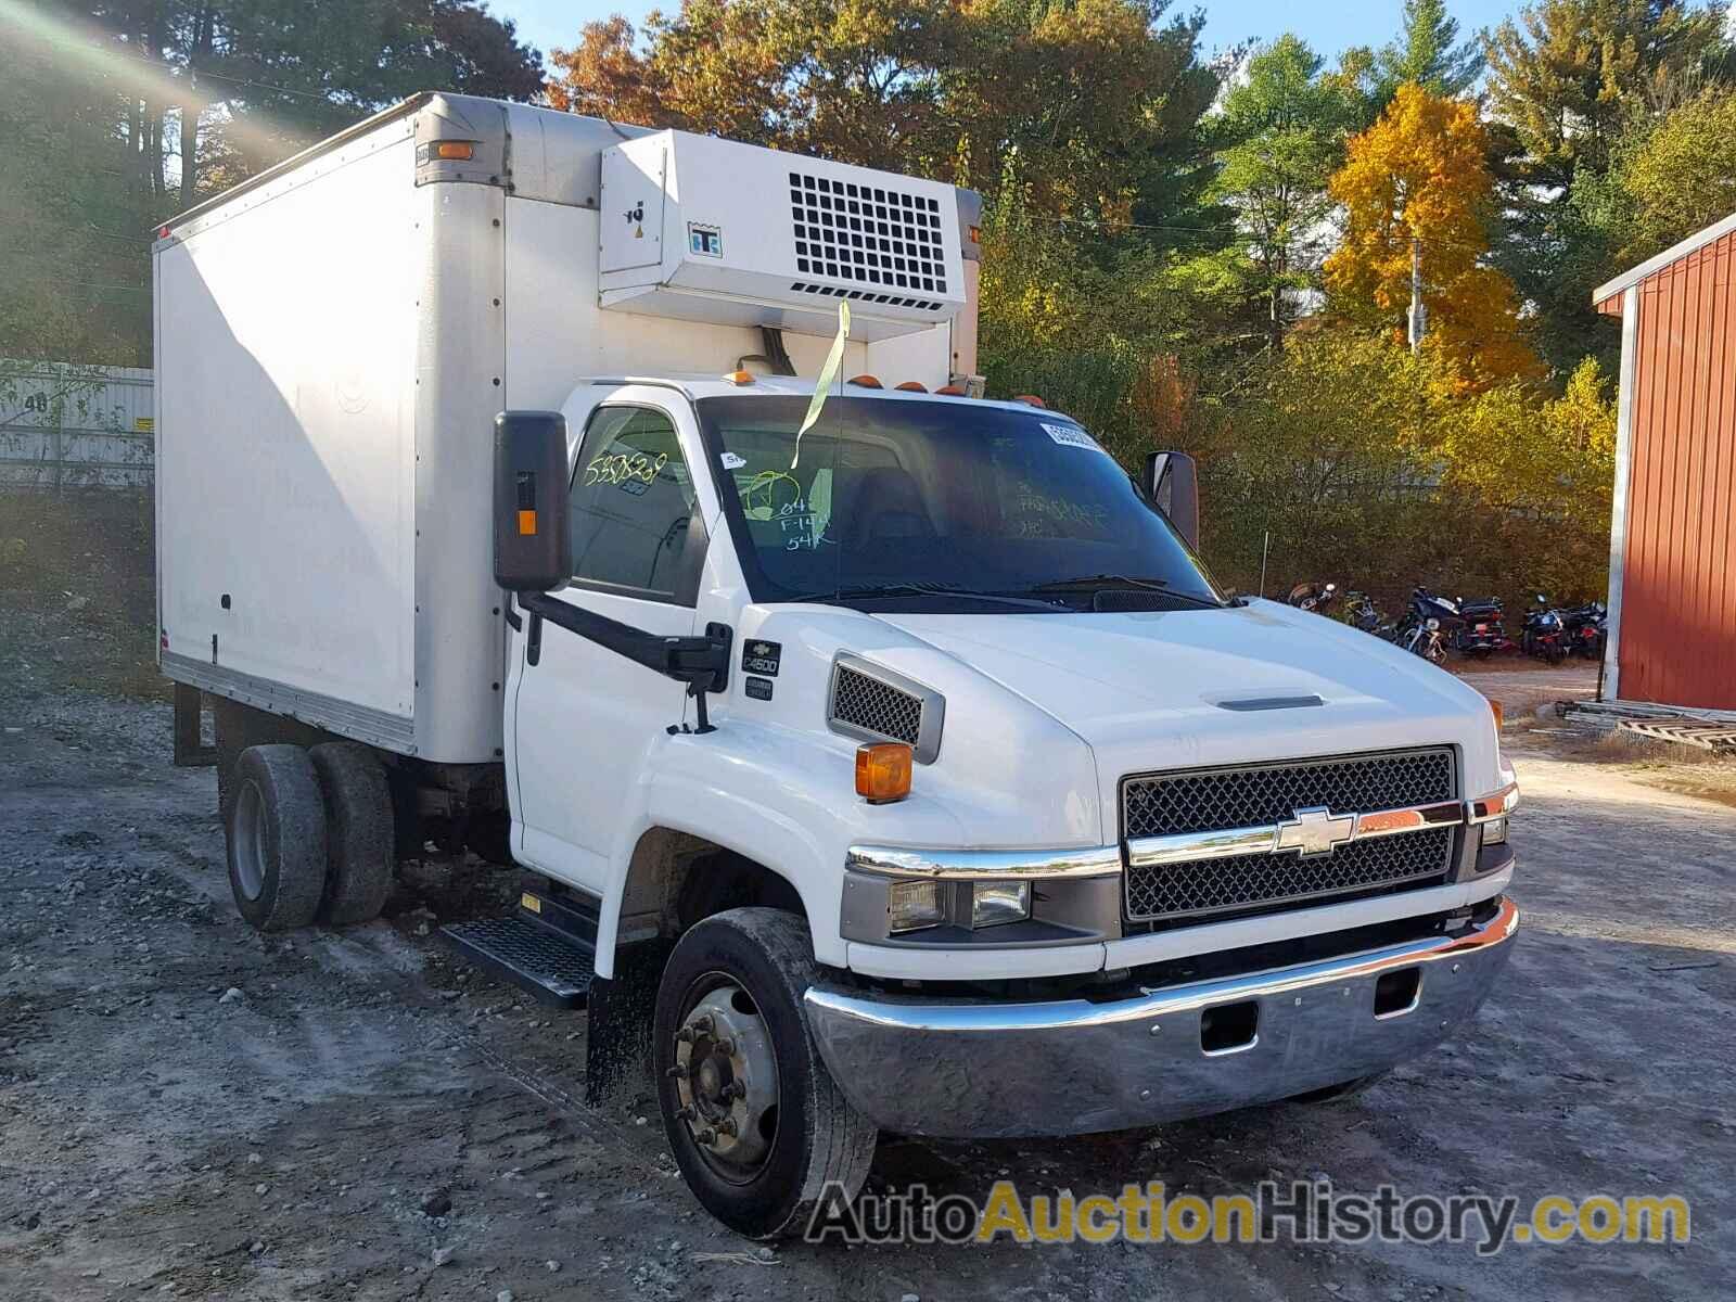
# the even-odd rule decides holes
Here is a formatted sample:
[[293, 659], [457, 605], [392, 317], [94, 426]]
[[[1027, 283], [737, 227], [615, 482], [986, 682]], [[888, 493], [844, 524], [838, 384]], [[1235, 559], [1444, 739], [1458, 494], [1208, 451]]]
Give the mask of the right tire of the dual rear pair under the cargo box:
[[373, 922], [392, 891], [392, 790], [373, 752], [356, 741], [326, 741], [307, 752], [319, 778], [326, 819], [323, 922]]

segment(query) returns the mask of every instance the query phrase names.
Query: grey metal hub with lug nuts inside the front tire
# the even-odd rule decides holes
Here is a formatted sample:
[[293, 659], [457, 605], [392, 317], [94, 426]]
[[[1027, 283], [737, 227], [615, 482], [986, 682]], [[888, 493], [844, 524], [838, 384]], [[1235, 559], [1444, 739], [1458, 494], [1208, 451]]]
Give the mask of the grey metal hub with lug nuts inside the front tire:
[[759, 1007], [741, 986], [719, 986], [687, 1010], [668, 1075], [681, 1101], [677, 1116], [707, 1160], [741, 1168], [766, 1158], [778, 1061]]

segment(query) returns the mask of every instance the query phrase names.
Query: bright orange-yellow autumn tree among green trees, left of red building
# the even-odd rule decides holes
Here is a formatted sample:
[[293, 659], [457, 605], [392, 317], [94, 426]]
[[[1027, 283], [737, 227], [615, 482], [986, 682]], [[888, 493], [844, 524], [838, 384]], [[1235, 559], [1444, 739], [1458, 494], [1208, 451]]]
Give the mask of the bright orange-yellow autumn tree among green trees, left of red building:
[[1427, 345], [1472, 387], [1542, 370], [1521, 333], [1512, 281], [1486, 264], [1495, 193], [1486, 158], [1474, 104], [1399, 87], [1332, 177], [1345, 226], [1326, 259], [1333, 309], [1403, 335], [1420, 243]]

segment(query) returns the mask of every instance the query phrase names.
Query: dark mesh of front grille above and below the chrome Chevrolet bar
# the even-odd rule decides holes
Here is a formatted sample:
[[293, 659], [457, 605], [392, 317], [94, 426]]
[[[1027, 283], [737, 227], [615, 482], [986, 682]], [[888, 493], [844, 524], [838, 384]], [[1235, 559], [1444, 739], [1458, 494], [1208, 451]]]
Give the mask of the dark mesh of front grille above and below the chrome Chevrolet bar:
[[[1276, 825], [1299, 809], [1363, 814], [1451, 800], [1448, 748], [1344, 755], [1259, 767], [1184, 769], [1121, 781], [1127, 840]], [[1340, 845], [1332, 854], [1240, 854], [1130, 866], [1130, 922], [1266, 911], [1323, 896], [1427, 885], [1446, 878], [1453, 830], [1432, 828]]]

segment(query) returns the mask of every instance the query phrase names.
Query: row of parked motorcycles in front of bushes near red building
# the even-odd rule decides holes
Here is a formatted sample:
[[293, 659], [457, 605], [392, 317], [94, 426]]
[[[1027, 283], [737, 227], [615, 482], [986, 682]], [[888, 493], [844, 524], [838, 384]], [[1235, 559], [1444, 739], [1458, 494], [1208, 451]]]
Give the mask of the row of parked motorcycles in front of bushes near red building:
[[1538, 592], [1517, 642], [1507, 635], [1500, 597], [1443, 597], [1418, 587], [1397, 620], [1387, 618], [1366, 592], [1345, 592], [1337, 583], [1297, 583], [1285, 601], [1297, 609], [1342, 620], [1436, 663], [1448, 653], [1472, 660], [1498, 653], [1526, 654], [1550, 665], [1568, 656], [1602, 660], [1604, 654], [1608, 611], [1601, 601], [1561, 608]]

